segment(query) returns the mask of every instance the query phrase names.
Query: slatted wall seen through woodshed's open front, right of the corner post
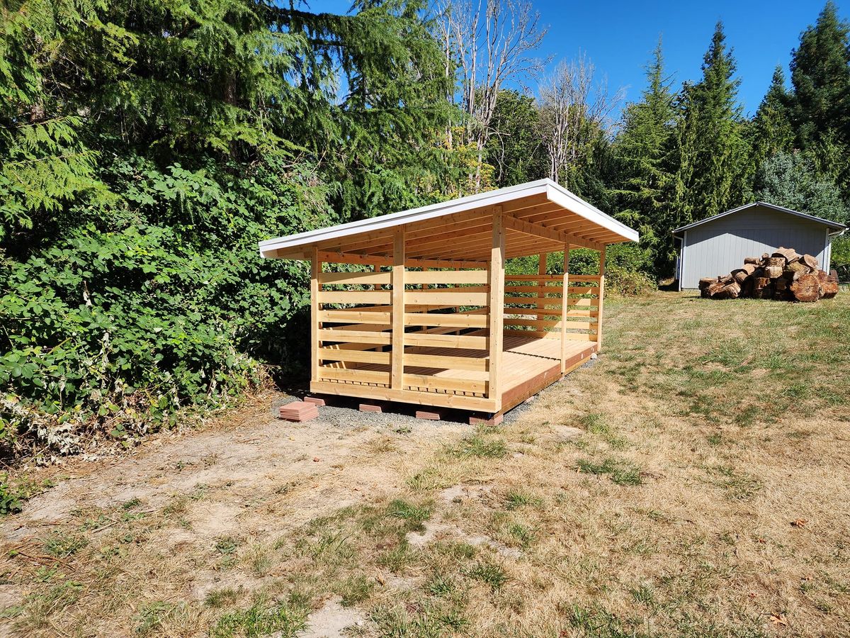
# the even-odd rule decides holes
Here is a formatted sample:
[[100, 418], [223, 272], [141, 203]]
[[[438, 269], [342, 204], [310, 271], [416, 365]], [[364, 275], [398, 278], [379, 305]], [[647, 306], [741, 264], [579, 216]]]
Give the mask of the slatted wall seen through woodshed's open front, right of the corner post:
[[[566, 339], [596, 341], [599, 276], [570, 275]], [[560, 339], [562, 275], [505, 275], [505, 334]]]

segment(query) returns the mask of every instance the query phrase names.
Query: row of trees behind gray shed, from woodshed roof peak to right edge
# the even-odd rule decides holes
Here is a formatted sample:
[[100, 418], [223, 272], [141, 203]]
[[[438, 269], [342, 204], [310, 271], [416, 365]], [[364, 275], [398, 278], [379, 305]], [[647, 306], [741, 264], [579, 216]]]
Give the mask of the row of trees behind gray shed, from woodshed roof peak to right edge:
[[[499, 94], [488, 141], [494, 184], [547, 175], [640, 231], [639, 247], [612, 251], [657, 279], [672, 276], [672, 231], [762, 200], [846, 222], [850, 219], [850, 40], [847, 22], [827, 3], [791, 52], [791, 86], [777, 67], [753, 117], [744, 117], [732, 49], [717, 23], [702, 77], [676, 86], [661, 43], [649, 61], [640, 99], [622, 117], [598, 117], [617, 96], [579, 59], [555, 71], [533, 98]], [[587, 77], [591, 79], [588, 80]], [[595, 87], [590, 94], [587, 85]], [[553, 163], [553, 111], [571, 122], [570, 149]], [[568, 127], [569, 128], [569, 127]], [[850, 245], [834, 260], [850, 277]]]

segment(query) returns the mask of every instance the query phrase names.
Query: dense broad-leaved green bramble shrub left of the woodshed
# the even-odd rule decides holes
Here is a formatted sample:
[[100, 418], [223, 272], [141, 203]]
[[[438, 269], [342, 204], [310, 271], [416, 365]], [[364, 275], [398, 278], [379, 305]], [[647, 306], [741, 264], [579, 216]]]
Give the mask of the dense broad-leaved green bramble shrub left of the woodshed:
[[0, 458], [129, 445], [257, 387], [262, 360], [303, 361], [287, 348], [306, 342], [308, 267], [257, 241], [330, 221], [308, 178], [269, 163], [225, 190], [214, 166], [140, 159], [110, 178], [116, 208], [81, 206], [62, 241], [0, 259]]

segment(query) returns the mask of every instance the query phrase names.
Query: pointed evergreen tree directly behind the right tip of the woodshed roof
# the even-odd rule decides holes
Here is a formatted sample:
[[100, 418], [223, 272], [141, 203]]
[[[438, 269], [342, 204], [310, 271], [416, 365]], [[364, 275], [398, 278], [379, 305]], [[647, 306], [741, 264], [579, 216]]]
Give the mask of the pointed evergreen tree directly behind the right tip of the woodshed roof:
[[676, 98], [664, 74], [661, 41], [646, 67], [647, 87], [639, 102], [626, 106], [623, 128], [615, 143], [619, 187], [612, 191], [617, 218], [637, 229], [641, 245], [655, 248], [656, 231], [669, 209], [671, 151]]

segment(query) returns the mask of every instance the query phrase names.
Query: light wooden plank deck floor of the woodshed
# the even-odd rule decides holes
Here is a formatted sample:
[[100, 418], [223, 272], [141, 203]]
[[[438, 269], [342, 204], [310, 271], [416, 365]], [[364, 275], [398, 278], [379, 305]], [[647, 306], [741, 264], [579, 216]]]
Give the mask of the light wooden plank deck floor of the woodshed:
[[[422, 355], [439, 356], [470, 356], [486, 357], [482, 350], [457, 350], [446, 348], [408, 348], [405, 351]], [[561, 342], [560, 339], [539, 339], [519, 336], [505, 336], [504, 355], [502, 356], [502, 390], [501, 411], [507, 410], [523, 402], [560, 379], [561, 377]], [[597, 351], [594, 341], [567, 342], [567, 372], [585, 362], [593, 352]], [[388, 372], [389, 366], [371, 364], [358, 365], [360, 370], [375, 370]], [[428, 376], [447, 379], [487, 379], [486, 372], [457, 370], [453, 368], [406, 367], [405, 372], [425, 374]], [[411, 390], [419, 390], [411, 388]], [[424, 389], [422, 389], [424, 390]], [[356, 390], [353, 392], [356, 395]]]

